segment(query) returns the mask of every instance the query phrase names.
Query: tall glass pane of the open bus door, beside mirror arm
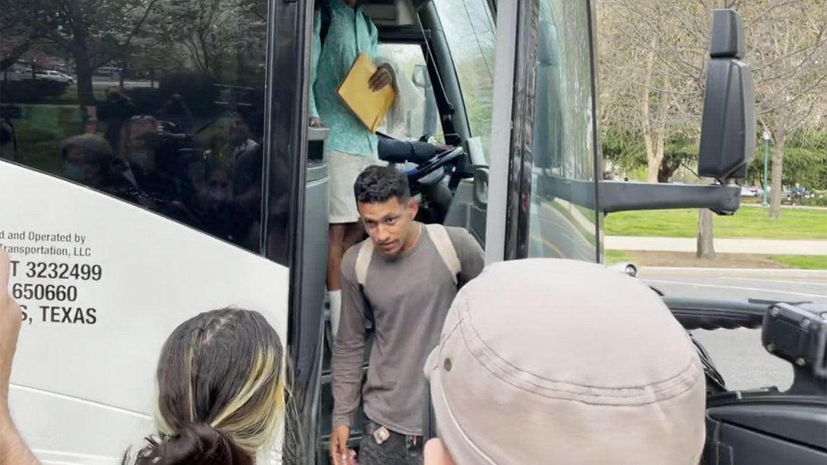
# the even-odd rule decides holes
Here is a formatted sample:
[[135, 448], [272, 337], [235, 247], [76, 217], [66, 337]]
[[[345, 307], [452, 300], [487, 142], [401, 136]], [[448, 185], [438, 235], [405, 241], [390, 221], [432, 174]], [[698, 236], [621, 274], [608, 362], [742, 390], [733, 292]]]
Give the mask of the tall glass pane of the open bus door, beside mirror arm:
[[596, 260], [588, 195], [559, 189], [595, 181], [589, 3], [539, 2], [528, 256]]

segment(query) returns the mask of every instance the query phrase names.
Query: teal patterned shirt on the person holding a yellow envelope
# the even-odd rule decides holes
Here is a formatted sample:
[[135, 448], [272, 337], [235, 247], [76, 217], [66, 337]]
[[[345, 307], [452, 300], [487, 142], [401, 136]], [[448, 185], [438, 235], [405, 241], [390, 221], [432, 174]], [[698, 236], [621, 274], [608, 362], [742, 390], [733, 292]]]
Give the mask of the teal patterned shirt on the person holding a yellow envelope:
[[356, 55], [365, 52], [372, 60], [379, 53], [379, 32], [359, 7], [330, 0], [331, 21], [324, 46], [320, 37], [321, 12], [313, 16], [313, 50], [310, 68], [310, 117], [318, 117], [330, 128], [327, 150], [378, 159], [376, 135], [342, 103], [336, 89], [351, 70]]

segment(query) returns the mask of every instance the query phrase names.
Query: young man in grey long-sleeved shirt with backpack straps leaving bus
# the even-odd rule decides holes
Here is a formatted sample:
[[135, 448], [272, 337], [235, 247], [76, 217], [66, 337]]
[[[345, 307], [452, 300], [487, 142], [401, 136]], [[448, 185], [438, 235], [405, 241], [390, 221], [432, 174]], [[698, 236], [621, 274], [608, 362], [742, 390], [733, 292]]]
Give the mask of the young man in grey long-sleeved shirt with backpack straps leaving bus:
[[[368, 167], [356, 179], [354, 195], [370, 237], [342, 259], [342, 320], [332, 357], [332, 459], [336, 465], [347, 460], [351, 420], [361, 398], [369, 421], [360, 465], [422, 463], [422, 367], [439, 343], [457, 289], [480, 274], [484, 254], [464, 229], [415, 222], [417, 201], [404, 173], [393, 168]], [[443, 258], [447, 254], [454, 260]], [[458, 264], [458, 276], [449, 263]], [[363, 389], [371, 314], [375, 339]]]

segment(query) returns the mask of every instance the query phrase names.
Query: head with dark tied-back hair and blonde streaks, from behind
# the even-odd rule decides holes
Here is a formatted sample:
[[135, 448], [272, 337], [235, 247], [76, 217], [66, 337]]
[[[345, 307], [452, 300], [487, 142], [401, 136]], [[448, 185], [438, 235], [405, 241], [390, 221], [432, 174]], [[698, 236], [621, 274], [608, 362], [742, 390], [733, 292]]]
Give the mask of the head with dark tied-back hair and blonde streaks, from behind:
[[158, 361], [160, 439], [136, 465], [252, 465], [284, 415], [283, 348], [264, 316], [218, 309], [180, 324]]

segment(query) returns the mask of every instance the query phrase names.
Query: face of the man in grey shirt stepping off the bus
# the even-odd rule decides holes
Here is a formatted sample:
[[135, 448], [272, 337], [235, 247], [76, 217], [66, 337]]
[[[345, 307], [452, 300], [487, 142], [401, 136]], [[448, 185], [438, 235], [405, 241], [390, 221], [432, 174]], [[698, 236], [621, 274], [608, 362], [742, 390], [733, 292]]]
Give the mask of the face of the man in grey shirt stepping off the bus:
[[359, 202], [358, 206], [362, 223], [376, 249], [383, 256], [399, 256], [408, 242], [419, 209], [416, 199], [400, 204], [394, 197], [387, 202]]

